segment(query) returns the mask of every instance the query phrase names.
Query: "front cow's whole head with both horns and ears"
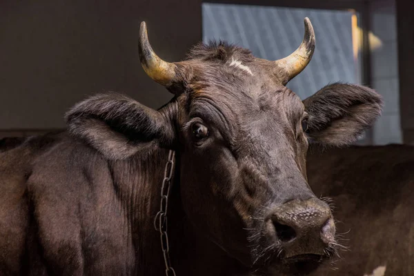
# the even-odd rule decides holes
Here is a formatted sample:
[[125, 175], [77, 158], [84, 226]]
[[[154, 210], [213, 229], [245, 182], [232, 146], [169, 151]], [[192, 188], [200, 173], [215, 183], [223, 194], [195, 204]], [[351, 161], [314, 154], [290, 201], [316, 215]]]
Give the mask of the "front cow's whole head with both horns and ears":
[[304, 101], [286, 88], [313, 55], [309, 19], [305, 29], [301, 46], [278, 61], [210, 43], [168, 63], [142, 23], [142, 66], [175, 97], [152, 110], [121, 95], [95, 96], [68, 112], [68, 126], [109, 159], [177, 150], [186, 216], [242, 264], [317, 264], [335, 245], [335, 224], [308, 186], [308, 144], [355, 141], [380, 115], [382, 100], [350, 84], [331, 84]]

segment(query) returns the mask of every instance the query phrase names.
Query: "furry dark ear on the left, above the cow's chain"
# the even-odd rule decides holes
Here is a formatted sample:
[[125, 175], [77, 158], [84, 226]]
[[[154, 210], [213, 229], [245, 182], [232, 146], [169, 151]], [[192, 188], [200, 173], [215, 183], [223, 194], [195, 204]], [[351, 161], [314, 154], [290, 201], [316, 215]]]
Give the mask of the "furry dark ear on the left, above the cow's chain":
[[115, 93], [97, 95], [70, 109], [66, 122], [71, 135], [108, 159], [126, 159], [157, 146], [172, 146], [175, 131], [166, 109], [168, 105], [153, 110]]

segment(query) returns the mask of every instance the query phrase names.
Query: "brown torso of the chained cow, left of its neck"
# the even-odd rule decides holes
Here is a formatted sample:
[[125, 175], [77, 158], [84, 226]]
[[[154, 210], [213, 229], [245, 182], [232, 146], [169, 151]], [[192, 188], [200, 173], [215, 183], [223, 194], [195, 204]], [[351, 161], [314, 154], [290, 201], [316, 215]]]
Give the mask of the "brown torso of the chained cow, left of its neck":
[[[126, 237], [131, 224], [108, 177], [109, 164], [62, 134], [28, 139], [1, 153], [1, 160], [0, 194], [18, 195], [14, 200], [21, 202], [18, 215], [1, 220], [10, 229], [1, 239], [2, 252], [7, 253], [1, 256], [2, 273], [103, 275], [106, 271], [114, 275], [116, 268], [128, 275], [133, 271], [132, 244]], [[10, 214], [10, 207], [3, 204], [2, 217]], [[10, 241], [17, 250], [14, 255], [10, 255]]]

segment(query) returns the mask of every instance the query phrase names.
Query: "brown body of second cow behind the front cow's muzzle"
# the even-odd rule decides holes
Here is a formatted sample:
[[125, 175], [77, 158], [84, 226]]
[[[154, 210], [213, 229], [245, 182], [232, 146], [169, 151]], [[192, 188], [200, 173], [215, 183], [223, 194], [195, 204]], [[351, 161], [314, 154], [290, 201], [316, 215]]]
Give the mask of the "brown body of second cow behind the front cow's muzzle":
[[414, 146], [311, 147], [306, 166], [344, 234], [342, 259], [315, 275], [414, 275]]

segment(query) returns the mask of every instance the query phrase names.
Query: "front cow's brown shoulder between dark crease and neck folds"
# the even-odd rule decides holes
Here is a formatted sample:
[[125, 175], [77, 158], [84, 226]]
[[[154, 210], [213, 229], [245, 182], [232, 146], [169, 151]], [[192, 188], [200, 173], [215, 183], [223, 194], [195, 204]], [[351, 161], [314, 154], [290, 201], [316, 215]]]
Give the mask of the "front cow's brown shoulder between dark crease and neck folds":
[[127, 214], [108, 160], [96, 150], [63, 137], [34, 161], [28, 197], [48, 270], [56, 275], [115, 275], [132, 269], [134, 259], [124, 235]]

